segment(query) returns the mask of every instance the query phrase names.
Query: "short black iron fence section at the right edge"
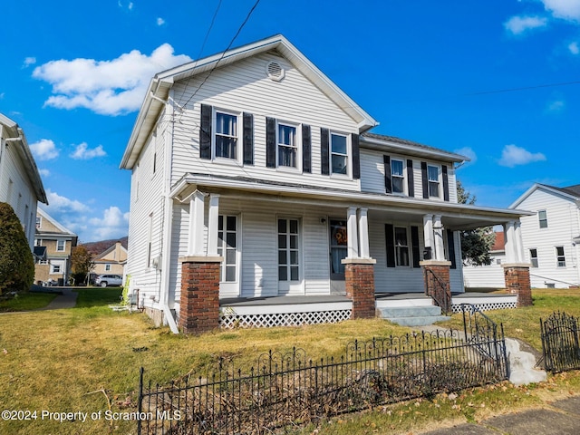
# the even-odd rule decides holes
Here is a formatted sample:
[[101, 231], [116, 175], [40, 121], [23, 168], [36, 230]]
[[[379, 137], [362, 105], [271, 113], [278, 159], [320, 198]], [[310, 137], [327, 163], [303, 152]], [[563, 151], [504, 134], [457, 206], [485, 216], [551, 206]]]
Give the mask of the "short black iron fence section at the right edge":
[[578, 319], [565, 313], [553, 313], [540, 319], [542, 353], [548, 372], [580, 369]]

